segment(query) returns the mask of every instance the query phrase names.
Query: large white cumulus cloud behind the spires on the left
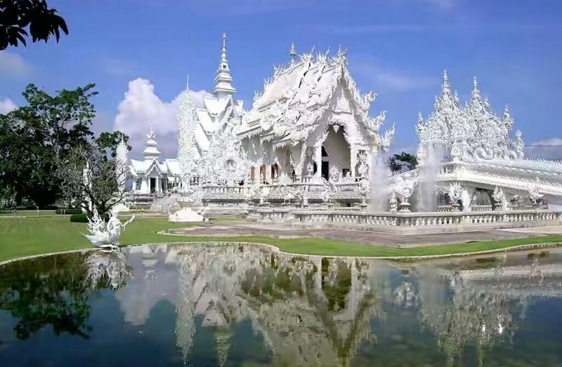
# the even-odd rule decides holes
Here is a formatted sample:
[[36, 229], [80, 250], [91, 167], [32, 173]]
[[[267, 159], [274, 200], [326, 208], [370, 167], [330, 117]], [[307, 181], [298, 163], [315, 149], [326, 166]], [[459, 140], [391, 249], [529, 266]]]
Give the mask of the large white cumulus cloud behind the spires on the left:
[[[178, 106], [185, 91], [179, 93], [171, 101], [161, 100], [155, 93], [155, 87], [143, 78], [129, 81], [129, 89], [119, 103], [118, 112], [113, 122], [115, 130], [129, 135], [129, 145], [133, 147], [131, 156], [141, 158], [146, 133], [152, 123], [155, 128], [156, 140], [162, 158], [177, 156], [177, 119]], [[197, 107], [202, 106], [206, 91], [190, 91]]]

